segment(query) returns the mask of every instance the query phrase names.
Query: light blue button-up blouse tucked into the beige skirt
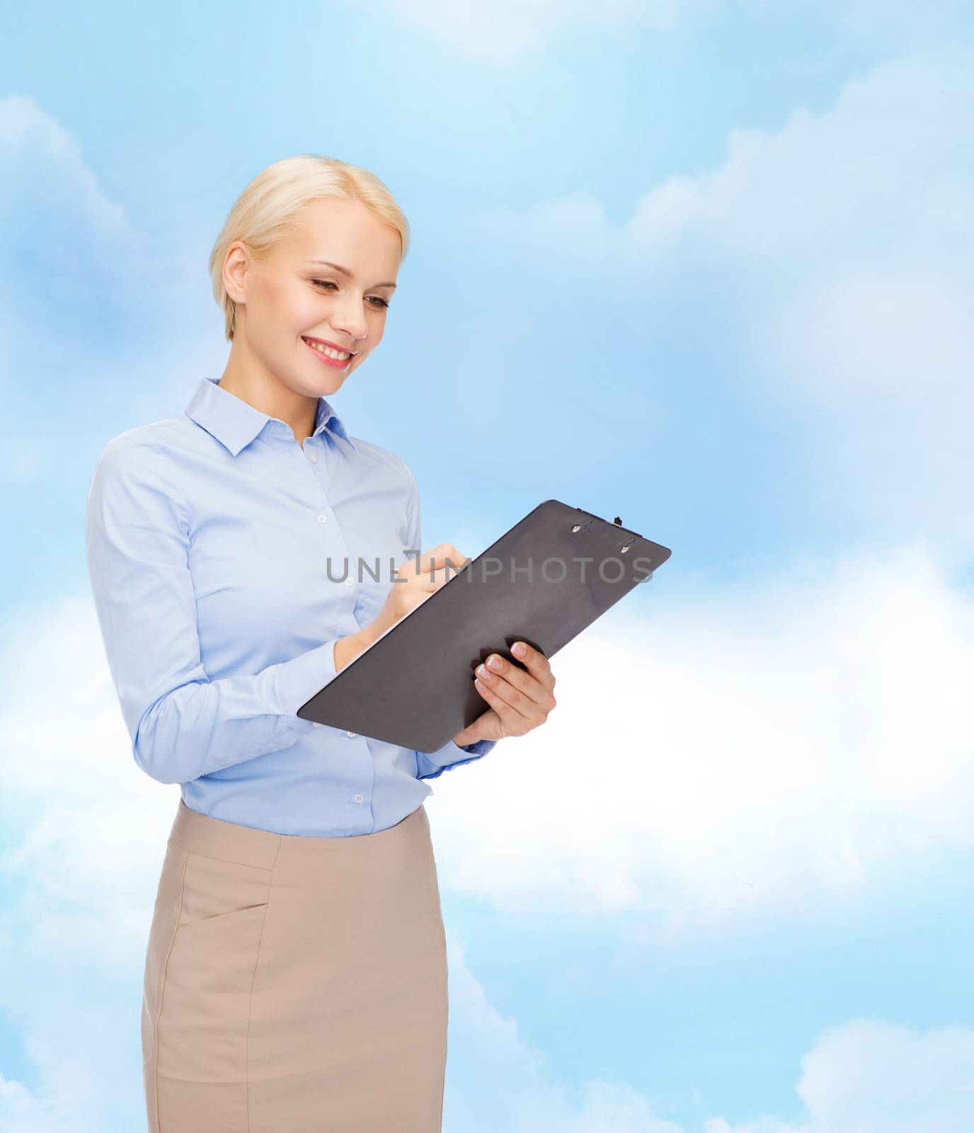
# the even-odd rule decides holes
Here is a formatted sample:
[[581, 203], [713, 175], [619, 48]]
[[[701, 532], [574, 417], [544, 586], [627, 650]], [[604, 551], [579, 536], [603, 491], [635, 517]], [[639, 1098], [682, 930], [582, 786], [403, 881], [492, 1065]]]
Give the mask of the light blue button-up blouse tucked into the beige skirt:
[[213, 818], [349, 836], [485, 756], [496, 741], [426, 755], [297, 715], [334, 678], [335, 640], [382, 608], [390, 560], [422, 550], [419, 518], [408, 465], [324, 398], [304, 445], [207, 377], [185, 412], [112, 437], [87, 562], [136, 764]]

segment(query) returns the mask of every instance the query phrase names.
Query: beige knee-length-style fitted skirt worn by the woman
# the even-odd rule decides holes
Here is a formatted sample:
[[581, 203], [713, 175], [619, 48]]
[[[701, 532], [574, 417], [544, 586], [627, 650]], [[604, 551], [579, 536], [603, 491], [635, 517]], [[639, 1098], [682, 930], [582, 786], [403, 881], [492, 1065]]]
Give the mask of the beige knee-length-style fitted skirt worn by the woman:
[[180, 799], [145, 964], [149, 1133], [438, 1133], [446, 978], [424, 806], [304, 837]]

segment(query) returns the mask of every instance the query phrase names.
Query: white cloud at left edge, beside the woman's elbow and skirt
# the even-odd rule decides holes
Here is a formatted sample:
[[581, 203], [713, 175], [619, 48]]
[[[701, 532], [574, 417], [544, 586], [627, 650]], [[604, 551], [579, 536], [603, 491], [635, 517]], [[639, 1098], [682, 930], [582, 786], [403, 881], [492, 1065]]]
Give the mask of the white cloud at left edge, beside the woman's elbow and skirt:
[[130, 1130], [137, 989], [178, 789], [131, 759], [89, 599], [10, 610], [6, 624], [0, 938], [16, 979], [0, 980], [0, 1010], [36, 1082], [0, 1088], [0, 1131]]

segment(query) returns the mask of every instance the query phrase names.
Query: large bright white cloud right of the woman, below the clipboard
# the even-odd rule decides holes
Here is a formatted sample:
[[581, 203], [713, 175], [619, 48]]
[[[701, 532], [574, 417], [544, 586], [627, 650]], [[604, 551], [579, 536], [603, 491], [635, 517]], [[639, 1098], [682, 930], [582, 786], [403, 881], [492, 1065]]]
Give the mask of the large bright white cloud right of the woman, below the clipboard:
[[676, 934], [974, 844], [974, 603], [922, 548], [625, 600], [553, 658], [542, 729], [436, 781], [446, 884]]

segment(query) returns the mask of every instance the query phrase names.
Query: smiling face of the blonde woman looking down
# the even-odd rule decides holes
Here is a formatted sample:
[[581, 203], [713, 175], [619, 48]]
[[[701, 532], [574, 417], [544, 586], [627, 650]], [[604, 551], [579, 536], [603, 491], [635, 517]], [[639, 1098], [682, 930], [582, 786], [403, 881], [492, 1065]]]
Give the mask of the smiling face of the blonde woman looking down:
[[224, 266], [237, 303], [231, 349], [242, 348], [296, 393], [334, 393], [382, 341], [400, 250], [396, 229], [358, 201], [314, 202], [259, 259], [231, 245]]

